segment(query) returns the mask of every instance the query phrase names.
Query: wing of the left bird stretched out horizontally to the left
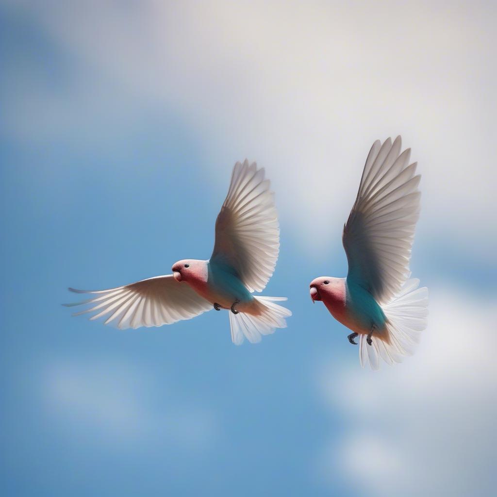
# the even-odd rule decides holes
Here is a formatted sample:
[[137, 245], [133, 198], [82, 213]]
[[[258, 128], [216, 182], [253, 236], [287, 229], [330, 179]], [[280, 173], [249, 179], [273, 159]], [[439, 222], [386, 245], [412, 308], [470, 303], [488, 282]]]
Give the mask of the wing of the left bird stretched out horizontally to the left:
[[182, 319], [191, 319], [212, 309], [212, 305], [200, 297], [186, 283], [178, 283], [172, 276], [155, 276], [130, 285], [110, 288], [109, 290], [75, 290], [76, 293], [93, 293], [97, 297], [78, 302], [64, 304], [77, 306], [96, 304], [80, 314], [98, 311], [90, 320], [110, 314], [105, 325], [119, 318], [118, 328], [139, 328], [141, 326], [170, 325]]

